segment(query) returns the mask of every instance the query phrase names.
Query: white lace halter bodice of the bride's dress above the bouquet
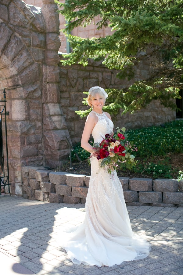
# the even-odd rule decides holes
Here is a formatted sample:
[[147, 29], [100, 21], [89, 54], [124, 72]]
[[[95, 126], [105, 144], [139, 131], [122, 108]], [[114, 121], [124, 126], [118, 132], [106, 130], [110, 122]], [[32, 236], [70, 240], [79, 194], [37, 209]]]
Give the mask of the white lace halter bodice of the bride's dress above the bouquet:
[[[94, 111], [92, 111], [94, 112]], [[92, 137], [94, 138], [94, 142], [101, 142], [102, 139], [105, 138], [105, 134], [113, 133], [113, 122], [106, 116], [103, 112], [102, 114], [98, 114], [94, 112], [94, 114], [98, 117], [98, 122], [92, 130]]]

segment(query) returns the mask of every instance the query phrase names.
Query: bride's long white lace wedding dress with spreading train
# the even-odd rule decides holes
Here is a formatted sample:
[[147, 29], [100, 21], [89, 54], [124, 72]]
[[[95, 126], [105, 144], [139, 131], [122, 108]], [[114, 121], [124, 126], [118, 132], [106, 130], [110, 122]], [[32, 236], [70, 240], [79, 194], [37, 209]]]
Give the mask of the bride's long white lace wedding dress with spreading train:
[[[100, 142], [113, 132], [113, 122], [103, 113], [98, 116], [92, 136]], [[132, 232], [123, 189], [116, 171], [110, 176], [99, 169], [91, 157], [91, 177], [83, 223], [63, 235], [61, 246], [75, 264], [113, 266], [124, 261], [143, 259], [151, 245]]]

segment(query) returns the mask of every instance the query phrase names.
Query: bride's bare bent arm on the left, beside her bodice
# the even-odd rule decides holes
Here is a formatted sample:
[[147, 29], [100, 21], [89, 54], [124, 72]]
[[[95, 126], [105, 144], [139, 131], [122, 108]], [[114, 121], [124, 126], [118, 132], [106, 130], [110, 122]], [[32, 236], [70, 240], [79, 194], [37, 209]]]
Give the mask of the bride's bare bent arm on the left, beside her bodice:
[[88, 115], [86, 122], [85, 122], [82, 138], [81, 138], [81, 147], [90, 153], [92, 153], [94, 151], [94, 149], [91, 146], [91, 144], [88, 143], [88, 140], [90, 138], [93, 127], [97, 123], [96, 120], [98, 120], [98, 118], [96, 116], [92, 116], [90, 114]]

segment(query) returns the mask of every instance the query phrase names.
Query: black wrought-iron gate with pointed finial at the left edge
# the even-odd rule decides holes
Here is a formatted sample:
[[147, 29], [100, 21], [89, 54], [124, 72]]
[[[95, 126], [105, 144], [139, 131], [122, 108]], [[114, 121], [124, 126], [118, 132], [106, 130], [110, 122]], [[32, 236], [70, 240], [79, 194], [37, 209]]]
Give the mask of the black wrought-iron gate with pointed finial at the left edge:
[[[0, 195], [3, 193], [10, 193], [9, 183], [9, 165], [8, 165], [8, 142], [7, 142], [7, 127], [6, 116], [6, 92], [3, 90], [4, 100], [0, 100]], [[5, 188], [8, 186], [8, 191]]]

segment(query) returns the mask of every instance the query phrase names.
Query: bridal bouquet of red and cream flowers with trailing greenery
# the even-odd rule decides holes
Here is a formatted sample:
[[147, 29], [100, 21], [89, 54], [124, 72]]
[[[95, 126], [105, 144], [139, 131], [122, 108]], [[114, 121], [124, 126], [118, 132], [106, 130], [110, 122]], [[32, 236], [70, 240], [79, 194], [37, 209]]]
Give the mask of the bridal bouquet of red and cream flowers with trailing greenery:
[[92, 156], [95, 156], [99, 160], [100, 167], [107, 167], [109, 174], [123, 165], [128, 169], [136, 165], [135, 156], [132, 155], [132, 152], [137, 151], [137, 147], [127, 141], [125, 127], [121, 129], [117, 127], [116, 129], [116, 134], [106, 134], [100, 143], [93, 143], [95, 152]]

